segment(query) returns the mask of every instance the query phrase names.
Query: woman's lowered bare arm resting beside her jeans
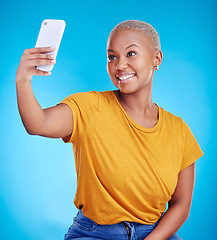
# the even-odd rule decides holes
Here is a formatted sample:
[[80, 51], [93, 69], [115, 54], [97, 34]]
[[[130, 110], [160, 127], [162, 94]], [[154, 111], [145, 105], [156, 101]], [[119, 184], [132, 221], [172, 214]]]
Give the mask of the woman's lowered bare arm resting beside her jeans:
[[167, 240], [179, 230], [189, 216], [194, 180], [195, 163], [179, 173], [177, 187], [168, 210], [145, 240]]

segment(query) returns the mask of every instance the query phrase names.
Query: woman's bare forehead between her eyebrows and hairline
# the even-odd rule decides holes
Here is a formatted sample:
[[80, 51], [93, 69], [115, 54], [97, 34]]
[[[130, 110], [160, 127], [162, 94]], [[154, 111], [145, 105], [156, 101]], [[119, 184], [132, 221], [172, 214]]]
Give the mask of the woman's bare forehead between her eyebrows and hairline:
[[119, 29], [108, 39], [108, 49], [126, 48], [131, 44], [136, 44], [140, 48], [153, 48], [153, 44], [144, 32], [134, 29]]

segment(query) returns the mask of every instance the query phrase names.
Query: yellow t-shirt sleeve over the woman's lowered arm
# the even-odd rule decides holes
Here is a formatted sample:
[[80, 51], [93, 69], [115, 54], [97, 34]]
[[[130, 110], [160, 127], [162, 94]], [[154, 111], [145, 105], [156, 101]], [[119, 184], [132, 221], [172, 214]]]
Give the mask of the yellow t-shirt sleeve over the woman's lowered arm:
[[188, 166], [193, 164], [197, 159], [203, 156], [203, 151], [201, 150], [192, 131], [185, 122], [183, 122], [183, 131], [184, 131], [184, 151], [180, 171], [187, 168]]

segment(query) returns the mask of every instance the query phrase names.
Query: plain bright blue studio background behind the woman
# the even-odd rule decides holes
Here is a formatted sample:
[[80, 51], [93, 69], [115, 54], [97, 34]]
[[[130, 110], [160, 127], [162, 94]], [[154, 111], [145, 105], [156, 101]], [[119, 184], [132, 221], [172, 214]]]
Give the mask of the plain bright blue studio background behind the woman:
[[15, 76], [41, 22], [64, 19], [66, 29], [52, 75], [33, 77], [43, 108], [66, 96], [115, 89], [106, 72], [106, 41], [120, 21], [139, 19], [158, 31], [164, 53], [153, 99], [181, 116], [205, 155], [197, 162], [191, 214], [184, 240], [216, 239], [217, 3], [206, 1], [1, 1], [0, 238], [60, 240], [77, 209], [70, 144], [30, 136], [16, 104]]

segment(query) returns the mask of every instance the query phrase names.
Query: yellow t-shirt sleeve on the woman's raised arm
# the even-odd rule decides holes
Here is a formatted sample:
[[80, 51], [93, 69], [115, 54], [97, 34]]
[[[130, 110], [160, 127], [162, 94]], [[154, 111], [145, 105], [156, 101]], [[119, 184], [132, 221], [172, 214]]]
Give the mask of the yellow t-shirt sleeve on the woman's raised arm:
[[97, 92], [75, 93], [60, 102], [70, 107], [73, 116], [73, 131], [70, 136], [63, 137], [65, 143], [74, 142], [87, 127], [98, 107]]

